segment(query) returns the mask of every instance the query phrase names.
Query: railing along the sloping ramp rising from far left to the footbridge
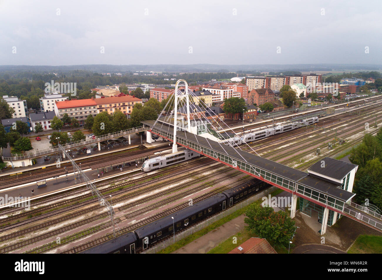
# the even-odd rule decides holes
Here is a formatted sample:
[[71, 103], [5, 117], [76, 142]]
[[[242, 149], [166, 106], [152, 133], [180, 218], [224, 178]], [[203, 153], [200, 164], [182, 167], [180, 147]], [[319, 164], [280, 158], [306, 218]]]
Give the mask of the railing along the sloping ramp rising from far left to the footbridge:
[[[104, 140], [108, 140], [108, 139], [112, 139], [112, 138], [117, 138], [120, 136], [125, 136], [127, 134], [138, 133], [138, 132], [145, 131], [145, 130], [147, 130], [147, 128], [145, 128], [144, 126], [139, 126], [139, 127], [130, 128], [127, 130], [121, 130], [119, 132], [100, 135], [100, 136], [97, 136], [95, 139], [84, 139], [84, 140], [72, 142], [70, 144], [66, 144], [65, 146], [63, 146], [63, 148], [65, 150], [68, 150], [68, 149], [71, 149], [74, 147], [84, 146], [84, 145], [88, 145], [91, 143], [100, 142], [100, 141], [104, 141]], [[11, 154], [12, 157], [2, 157], [2, 158], [3, 158], [3, 160], [23, 160], [23, 159], [27, 159], [27, 158], [39, 157], [42, 155], [52, 154], [52, 153], [59, 152], [59, 151], [60, 151], [60, 148], [58, 148], [58, 147], [53, 148], [52, 147], [52, 148], [48, 148], [48, 149], [44, 149], [44, 150], [39, 150], [38, 152], [37, 151], [36, 152], [29, 152], [28, 154], [26, 154], [26, 155], [24, 154], [22, 156], [18, 156], [16, 154]]]

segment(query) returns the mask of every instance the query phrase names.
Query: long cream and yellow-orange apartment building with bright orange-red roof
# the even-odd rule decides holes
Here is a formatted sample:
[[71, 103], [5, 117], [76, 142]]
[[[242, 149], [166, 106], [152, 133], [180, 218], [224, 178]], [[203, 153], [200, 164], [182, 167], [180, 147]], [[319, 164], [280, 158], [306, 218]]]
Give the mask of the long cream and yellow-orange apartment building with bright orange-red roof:
[[142, 100], [130, 95], [58, 101], [55, 103], [55, 113], [59, 118], [67, 113], [69, 117], [78, 119], [81, 125], [90, 114], [95, 117], [100, 112], [112, 114], [116, 110], [121, 110], [123, 114], [129, 115], [136, 103], [142, 103]]

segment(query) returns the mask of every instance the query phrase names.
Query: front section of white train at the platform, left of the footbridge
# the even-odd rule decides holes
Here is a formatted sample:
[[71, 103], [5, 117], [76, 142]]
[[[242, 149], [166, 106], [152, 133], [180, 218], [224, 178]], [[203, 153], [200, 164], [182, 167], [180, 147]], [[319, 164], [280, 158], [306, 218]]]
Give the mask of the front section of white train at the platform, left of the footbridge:
[[194, 152], [193, 150], [185, 149], [173, 154], [162, 155], [160, 157], [149, 158], [142, 164], [141, 170], [148, 172], [151, 170], [163, 168], [178, 162], [184, 162], [191, 158], [200, 157], [201, 154]]

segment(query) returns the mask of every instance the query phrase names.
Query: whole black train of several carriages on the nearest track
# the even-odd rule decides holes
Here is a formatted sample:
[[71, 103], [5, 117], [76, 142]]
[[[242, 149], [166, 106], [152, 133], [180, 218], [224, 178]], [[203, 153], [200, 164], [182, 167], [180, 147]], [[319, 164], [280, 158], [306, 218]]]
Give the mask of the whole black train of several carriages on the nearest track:
[[82, 253], [135, 254], [138, 251], [144, 251], [159, 240], [174, 234], [174, 232], [188, 228], [192, 224], [219, 211], [224, 211], [235, 205], [235, 203], [268, 186], [271, 185], [253, 178], [237, 187], [225, 190], [221, 194], [204, 199], [194, 205], [187, 206], [167, 217], [146, 224], [134, 230], [134, 232], [121, 235]]

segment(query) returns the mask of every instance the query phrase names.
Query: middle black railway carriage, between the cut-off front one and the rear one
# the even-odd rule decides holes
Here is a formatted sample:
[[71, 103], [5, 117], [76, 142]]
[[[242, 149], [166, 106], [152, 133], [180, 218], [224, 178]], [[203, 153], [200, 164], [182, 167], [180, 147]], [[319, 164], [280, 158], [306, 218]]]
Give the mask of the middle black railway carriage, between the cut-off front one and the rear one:
[[[225, 210], [227, 197], [223, 194], [217, 194], [213, 197], [202, 200], [201, 202], [173, 213], [170, 216], [161, 218], [155, 222], [151, 222], [134, 233], [138, 237], [138, 246], [145, 250], [149, 245], [161, 240], [168, 235], [184, 229], [195, 222], [198, 222], [208, 216], [215, 214], [221, 210]], [[171, 218], [174, 217], [174, 220]]]

